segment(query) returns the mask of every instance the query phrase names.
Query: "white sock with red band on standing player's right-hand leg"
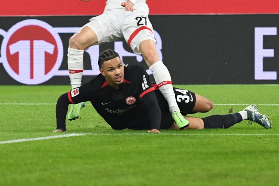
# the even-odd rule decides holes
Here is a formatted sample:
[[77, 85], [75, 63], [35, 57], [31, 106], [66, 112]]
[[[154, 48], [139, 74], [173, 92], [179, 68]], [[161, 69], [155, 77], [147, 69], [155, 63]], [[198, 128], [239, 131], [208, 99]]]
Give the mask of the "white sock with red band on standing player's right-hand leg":
[[176, 103], [175, 94], [173, 92], [173, 85], [167, 67], [163, 64], [162, 61], [157, 61], [153, 65], [151, 65], [149, 69], [153, 73], [155, 82], [158, 85], [159, 90], [162, 92], [163, 96], [168, 102], [170, 112], [180, 112], [180, 109]]

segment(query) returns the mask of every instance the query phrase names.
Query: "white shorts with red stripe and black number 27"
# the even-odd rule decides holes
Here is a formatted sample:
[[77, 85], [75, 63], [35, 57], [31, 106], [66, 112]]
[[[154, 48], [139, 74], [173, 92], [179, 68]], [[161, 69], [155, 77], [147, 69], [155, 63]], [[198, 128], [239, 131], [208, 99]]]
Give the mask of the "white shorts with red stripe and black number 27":
[[84, 26], [90, 27], [96, 33], [98, 44], [124, 38], [134, 53], [141, 54], [138, 49], [143, 40], [151, 39], [156, 42], [148, 13], [149, 10], [131, 12], [125, 9], [109, 9], [91, 18]]

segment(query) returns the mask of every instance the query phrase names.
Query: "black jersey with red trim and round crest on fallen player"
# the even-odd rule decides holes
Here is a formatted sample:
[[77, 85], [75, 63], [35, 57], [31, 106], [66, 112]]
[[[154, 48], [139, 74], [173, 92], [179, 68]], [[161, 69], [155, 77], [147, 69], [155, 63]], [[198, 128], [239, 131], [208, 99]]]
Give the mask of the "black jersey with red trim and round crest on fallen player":
[[142, 97], [153, 90], [153, 84], [142, 67], [124, 65], [124, 81], [119, 89], [112, 89], [104, 76], [99, 74], [68, 92], [68, 99], [72, 104], [90, 101], [113, 129], [150, 129], [149, 108], [143, 103]]

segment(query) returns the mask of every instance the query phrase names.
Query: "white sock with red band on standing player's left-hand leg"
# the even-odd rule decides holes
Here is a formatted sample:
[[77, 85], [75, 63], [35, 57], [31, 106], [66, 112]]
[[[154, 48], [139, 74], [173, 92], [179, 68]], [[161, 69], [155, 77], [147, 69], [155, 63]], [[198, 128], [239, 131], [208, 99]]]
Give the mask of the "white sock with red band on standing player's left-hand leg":
[[83, 72], [84, 50], [77, 50], [68, 47], [68, 70], [72, 89], [80, 87]]

